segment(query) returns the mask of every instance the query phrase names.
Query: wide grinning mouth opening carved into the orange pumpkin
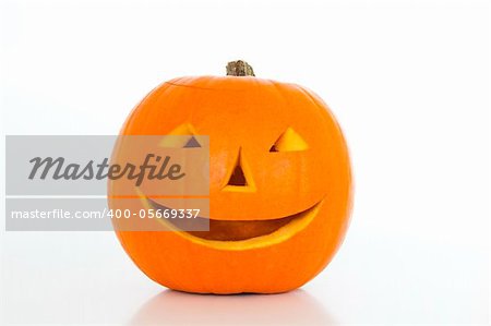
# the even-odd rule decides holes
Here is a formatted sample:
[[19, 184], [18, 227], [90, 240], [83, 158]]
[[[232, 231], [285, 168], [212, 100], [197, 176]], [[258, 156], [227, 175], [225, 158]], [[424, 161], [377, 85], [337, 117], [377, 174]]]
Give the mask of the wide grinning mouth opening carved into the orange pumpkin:
[[[154, 209], [166, 210], [169, 207], [164, 206], [151, 198], [146, 198], [147, 203]], [[179, 230], [185, 230], [187, 224], [196, 222], [196, 219], [201, 219], [203, 222], [205, 219], [209, 220], [209, 231], [182, 231], [191, 234], [192, 237], [200, 238], [207, 241], [248, 241], [254, 238], [264, 238], [270, 234], [277, 233], [287, 229], [290, 225], [306, 225], [301, 224], [301, 220], [313, 218], [314, 213], [320, 206], [321, 202], [316, 203], [312, 207], [309, 207], [302, 212], [267, 220], [216, 220], [204, 217], [195, 217], [193, 219], [166, 219], [175, 228]], [[197, 221], [200, 222], [200, 220]]]

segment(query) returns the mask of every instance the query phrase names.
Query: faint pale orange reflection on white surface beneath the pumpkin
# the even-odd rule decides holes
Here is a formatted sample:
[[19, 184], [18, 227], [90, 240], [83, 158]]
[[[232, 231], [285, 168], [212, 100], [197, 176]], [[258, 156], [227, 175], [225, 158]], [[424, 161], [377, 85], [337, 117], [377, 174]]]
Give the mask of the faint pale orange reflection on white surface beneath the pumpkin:
[[213, 295], [165, 290], [130, 325], [330, 325], [322, 304], [303, 290], [282, 294]]

